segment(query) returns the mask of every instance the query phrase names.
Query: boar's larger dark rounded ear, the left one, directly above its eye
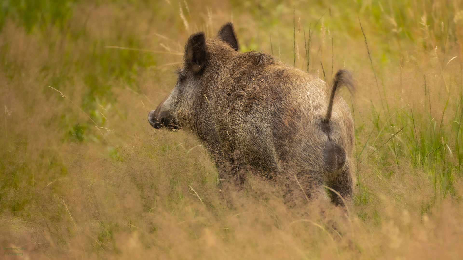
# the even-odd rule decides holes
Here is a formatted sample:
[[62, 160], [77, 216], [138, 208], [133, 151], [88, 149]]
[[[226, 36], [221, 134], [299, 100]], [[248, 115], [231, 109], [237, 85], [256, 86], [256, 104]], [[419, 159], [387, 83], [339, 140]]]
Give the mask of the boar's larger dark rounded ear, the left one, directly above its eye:
[[206, 65], [206, 38], [204, 32], [197, 32], [188, 38], [185, 46], [185, 65], [194, 74], [202, 71]]

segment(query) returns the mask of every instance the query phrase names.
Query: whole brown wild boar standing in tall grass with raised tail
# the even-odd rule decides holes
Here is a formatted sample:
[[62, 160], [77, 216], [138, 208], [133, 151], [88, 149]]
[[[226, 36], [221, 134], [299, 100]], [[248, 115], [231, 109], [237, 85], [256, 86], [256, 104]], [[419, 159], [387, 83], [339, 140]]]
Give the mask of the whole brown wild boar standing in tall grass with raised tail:
[[[350, 204], [354, 126], [349, 106], [334, 95], [338, 83], [352, 85], [350, 74], [336, 74], [330, 102], [326, 83], [313, 74], [237, 48], [231, 23], [218, 37], [193, 34], [177, 83], [150, 112], [150, 124], [191, 129], [218, 164], [241, 160], [278, 177], [288, 200], [324, 198], [326, 185]], [[330, 193], [334, 204], [344, 204]]]

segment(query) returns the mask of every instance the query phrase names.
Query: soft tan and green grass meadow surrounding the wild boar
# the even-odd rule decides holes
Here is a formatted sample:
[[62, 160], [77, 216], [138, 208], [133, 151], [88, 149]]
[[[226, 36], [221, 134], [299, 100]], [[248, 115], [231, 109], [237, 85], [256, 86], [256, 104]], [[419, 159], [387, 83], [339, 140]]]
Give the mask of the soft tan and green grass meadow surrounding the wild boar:
[[[356, 75], [340, 93], [355, 118], [349, 216], [290, 207], [253, 176], [222, 189], [192, 134], [148, 124], [189, 35], [228, 21], [243, 52], [328, 83]], [[0, 27], [4, 259], [463, 255], [461, 0], [1, 0]]]

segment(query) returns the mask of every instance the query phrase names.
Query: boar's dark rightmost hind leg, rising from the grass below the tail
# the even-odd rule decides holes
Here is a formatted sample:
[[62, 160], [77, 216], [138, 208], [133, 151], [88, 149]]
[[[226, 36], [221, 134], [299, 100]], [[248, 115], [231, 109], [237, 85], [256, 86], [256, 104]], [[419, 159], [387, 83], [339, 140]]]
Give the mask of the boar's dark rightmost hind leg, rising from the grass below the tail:
[[[340, 169], [339, 173], [333, 179], [326, 182], [326, 186], [337, 191], [344, 198], [344, 201], [347, 204], [345, 206], [350, 207], [352, 201], [353, 179], [349, 165], [346, 164], [342, 169]], [[338, 194], [331, 190], [329, 193], [333, 204], [344, 206], [344, 202], [342, 198], [339, 198]]]

